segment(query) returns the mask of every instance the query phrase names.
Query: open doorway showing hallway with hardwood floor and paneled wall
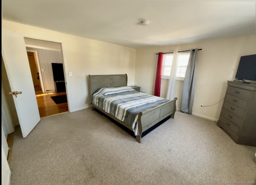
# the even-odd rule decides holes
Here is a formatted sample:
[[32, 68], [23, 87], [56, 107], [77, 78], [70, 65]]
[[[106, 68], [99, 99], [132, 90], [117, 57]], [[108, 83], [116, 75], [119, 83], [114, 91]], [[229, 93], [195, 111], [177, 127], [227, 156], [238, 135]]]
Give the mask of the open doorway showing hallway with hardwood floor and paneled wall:
[[55, 62], [63, 63], [62, 52], [36, 46], [26, 47], [26, 49], [40, 117], [67, 112], [66, 88], [60, 91], [56, 87], [51, 65]]

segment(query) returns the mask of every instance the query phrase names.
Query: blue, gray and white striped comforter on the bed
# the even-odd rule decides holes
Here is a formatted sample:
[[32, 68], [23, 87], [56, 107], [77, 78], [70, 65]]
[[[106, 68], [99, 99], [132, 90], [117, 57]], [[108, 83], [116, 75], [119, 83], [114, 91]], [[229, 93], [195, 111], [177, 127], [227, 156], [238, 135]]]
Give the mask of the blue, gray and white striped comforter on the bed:
[[131, 87], [101, 88], [92, 96], [92, 103], [117, 119], [135, 128], [138, 113], [161, 105], [168, 99], [137, 92]]

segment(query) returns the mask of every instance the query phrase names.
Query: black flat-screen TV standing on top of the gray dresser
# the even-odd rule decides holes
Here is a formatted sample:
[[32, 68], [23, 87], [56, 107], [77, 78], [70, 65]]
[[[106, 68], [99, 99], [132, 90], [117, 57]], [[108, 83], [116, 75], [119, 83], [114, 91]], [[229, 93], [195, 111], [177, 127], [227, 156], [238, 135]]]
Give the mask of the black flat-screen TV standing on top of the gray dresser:
[[239, 80], [256, 81], [256, 54], [241, 56], [236, 78]]

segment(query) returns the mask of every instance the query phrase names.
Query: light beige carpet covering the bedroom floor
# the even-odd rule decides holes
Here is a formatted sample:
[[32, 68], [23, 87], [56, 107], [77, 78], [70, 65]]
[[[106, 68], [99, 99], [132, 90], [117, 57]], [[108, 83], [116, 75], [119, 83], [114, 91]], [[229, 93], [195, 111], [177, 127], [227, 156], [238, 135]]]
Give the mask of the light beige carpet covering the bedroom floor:
[[255, 151], [216, 122], [178, 112], [138, 143], [84, 109], [42, 118], [26, 138], [15, 131], [11, 185], [247, 183], [256, 180]]

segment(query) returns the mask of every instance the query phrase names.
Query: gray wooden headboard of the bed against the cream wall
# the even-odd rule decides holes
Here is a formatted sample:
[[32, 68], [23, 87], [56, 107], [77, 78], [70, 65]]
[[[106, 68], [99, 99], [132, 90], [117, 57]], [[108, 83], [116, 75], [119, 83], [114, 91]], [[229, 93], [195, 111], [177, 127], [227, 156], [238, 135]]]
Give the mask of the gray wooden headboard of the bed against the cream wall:
[[127, 86], [127, 74], [89, 75], [91, 95], [99, 88]]

